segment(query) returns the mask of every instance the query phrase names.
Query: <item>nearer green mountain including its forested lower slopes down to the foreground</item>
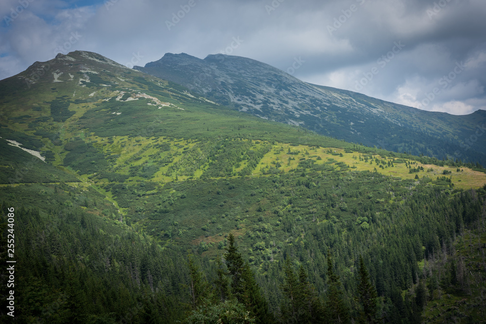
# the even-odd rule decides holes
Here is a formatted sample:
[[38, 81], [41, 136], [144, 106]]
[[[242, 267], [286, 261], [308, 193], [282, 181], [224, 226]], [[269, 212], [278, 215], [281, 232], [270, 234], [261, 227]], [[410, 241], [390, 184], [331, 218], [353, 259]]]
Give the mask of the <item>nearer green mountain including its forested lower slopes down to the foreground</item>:
[[88, 51], [0, 80], [0, 137], [2, 323], [13, 297], [21, 323], [319, 323], [331, 304], [358, 321], [364, 286], [388, 323], [484, 318], [477, 164], [265, 120]]

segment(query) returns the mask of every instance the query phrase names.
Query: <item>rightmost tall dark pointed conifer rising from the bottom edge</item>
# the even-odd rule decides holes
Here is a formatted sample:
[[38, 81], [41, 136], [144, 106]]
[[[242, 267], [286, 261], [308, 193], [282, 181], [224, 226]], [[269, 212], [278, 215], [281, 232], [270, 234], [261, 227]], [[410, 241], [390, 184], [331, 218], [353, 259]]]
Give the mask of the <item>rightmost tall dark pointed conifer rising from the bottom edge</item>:
[[371, 284], [368, 270], [364, 266], [363, 256], [360, 256], [358, 293], [359, 297], [356, 298], [356, 301], [362, 307], [358, 318], [359, 323], [378, 323], [377, 293], [375, 287]]

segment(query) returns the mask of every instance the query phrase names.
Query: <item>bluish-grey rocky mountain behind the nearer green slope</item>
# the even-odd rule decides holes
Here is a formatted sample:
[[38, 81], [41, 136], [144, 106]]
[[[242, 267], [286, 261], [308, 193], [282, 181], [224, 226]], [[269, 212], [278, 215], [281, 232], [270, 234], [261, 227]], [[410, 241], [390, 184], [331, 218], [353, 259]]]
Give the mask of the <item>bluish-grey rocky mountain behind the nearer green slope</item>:
[[256, 60], [225, 54], [202, 60], [167, 53], [145, 67], [134, 68], [262, 119], [390, 151], [486, 164], [486, 136], [481, 136], [485, 133], [484, 110], [466, 116], [423, 111], [305, 83]]

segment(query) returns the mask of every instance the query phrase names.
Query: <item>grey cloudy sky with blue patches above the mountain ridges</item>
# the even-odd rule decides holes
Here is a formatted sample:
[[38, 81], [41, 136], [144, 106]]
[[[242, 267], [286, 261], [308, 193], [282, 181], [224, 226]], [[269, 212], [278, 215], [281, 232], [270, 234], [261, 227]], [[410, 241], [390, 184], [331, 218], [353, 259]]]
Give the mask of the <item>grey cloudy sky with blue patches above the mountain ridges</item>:
[[0, 17], [0, 79], [74, 50], [128, 67], [223, 52], [425, 110], [486, 109], [485, 0], [2, 0]]

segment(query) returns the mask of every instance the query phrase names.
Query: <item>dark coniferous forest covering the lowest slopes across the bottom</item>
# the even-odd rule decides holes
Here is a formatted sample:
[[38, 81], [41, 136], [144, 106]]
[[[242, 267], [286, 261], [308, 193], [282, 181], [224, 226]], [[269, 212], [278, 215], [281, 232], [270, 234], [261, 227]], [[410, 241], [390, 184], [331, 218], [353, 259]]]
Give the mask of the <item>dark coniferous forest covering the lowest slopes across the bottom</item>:
[[[332, 201], [325, 189], [300, 187], [291, 208], [304, 210], [312, 196]], [[49, 206], [16, 210], [17, 316], [26, 323], [418, 323], [446, 296], [457, 299], [450, 319], [483, 314], [486, 188], [451, 197], [418, 186], [396, 209], [362, 202], [353, 221], [277, 207], [276, 220], [240, 220], [251, 230], [228, 230], [209, 251], [112, 226], [70, 208], [93, 202], [114, 213], [102, 197], [76, 201], [75, 188], [50, 189]]]

